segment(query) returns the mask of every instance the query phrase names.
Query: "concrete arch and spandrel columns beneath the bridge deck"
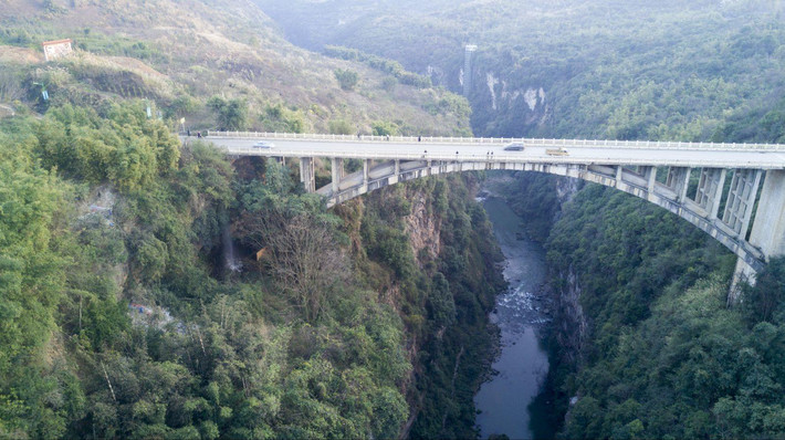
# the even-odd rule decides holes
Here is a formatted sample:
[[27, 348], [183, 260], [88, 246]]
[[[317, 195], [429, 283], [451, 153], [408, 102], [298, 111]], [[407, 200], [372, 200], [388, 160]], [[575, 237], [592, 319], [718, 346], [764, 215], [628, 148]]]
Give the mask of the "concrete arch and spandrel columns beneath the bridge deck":
[[[616, 188], [673, 212], [735, 253], [739, 256], [740, 277], [753, 277], [764, 266], [766, 256], [771, 255], [766, 252], [770, 248], [779, 247], [785, 252], [783, 243], [764, 243], [765, 240], [771, 241], [770, 228], [751, 228], [758, 198], [758, 203], [763, 206], [773, 197], [783, 197], [775, 185], [770, 185], [768, 190], [764, 185], [763, 190], [758, 191], [763, 177], [760, 169], [447, 161], [422, 158], [387, 161], [365, 159], [360, 170], [345, 175], [344, 160], [333, 158], [331, 184], [315, 189], [313, 166], [313, 158], [301, 158], [301, 180], [306, 190], [324, 196], [327, 207], [386, 186], [427, 176], [479, 170], [536, 171]], [[768, 174], [774, 177], [767, 178], [767, 181], [776, 177], [785, 185], [783, 171]], [[778, 206], [785, 206], [785, 198]], [[766, 213], [768, 221], [773, 221], [776, 216], [777, 212]], [[785, 222], [782, 220], [776, 219], [774, 223], [777, 228], [785, 229]], [[779, 223], [783, 223], [782, 227]], [[785, 230], [782, 232], [785, 234]]]

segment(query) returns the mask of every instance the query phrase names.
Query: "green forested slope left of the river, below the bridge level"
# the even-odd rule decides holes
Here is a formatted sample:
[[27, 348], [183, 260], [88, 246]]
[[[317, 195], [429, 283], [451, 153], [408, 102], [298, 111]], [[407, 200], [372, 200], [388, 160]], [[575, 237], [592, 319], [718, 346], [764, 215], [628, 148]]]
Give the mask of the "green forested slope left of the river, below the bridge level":
[[[0, 434], [471, 436], [501, 287], [471, 186], [327, 212], [144, 108], [0, 126]], [[230, 227], [268, 256], [223, 269]]]

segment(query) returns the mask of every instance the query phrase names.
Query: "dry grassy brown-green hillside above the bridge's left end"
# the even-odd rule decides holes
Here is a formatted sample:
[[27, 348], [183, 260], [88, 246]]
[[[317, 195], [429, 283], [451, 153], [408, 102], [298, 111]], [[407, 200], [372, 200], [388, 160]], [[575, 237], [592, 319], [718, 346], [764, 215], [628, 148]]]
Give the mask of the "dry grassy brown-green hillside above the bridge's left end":
[[[193, 128], [217, 128], [206, 103], [219, 96], [245, 103], [243, 128], [469, 134], [468, 115], [436, 105], [447, 92], [295, 48], [250, 1], [10, 0], [0, 24], [0, 65], [14, 72], [0, 102], [24, 97], [42, 109], [41, 83], [55, 103], [149, 98]], [[65, 38], [76, 56], [42, 64], [41, 42]], [[336, 71], [358, 81], [342, 87]]]

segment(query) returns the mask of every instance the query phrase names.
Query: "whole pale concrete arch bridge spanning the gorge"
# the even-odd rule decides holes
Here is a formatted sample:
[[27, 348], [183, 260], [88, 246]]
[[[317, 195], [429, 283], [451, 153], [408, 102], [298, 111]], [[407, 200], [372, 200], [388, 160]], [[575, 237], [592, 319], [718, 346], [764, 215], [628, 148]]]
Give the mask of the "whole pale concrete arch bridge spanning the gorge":
[[[426, 176], [538, 171], [616, 188], [685, 219], [739, 256], [734, 285], [785, 254], [785, 145], [254, 132], [209, 132], [208, 140], [234, 156], [299, 159], [305, 190], [328, 207]], [[259, 140], [268, 145], [254, 147]], [[322, 188], [315, 159], [331, 165]], [[348, 159], [362, 168], [346, 174]]]

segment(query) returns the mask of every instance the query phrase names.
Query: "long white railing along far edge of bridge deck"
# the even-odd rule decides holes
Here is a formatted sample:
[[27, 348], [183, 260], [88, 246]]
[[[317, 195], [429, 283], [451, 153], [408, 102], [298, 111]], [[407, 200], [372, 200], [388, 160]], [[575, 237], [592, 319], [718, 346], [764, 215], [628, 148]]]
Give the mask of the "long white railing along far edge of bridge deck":
[[354, 143], [428, 143], [428, 144], [496, 144], [506, 145], [523, 143], [531, 146], [553, 147], [600, 147], [600, 148], [641, 148], [641, 149], [757, 149], [782, 150], [783, 144], [720, 144], [720, 143], [683, 143], [683, 142], [652, 142], [652, 140], [600, 140], [600, 139], [534, 139], [521, 137], [453, 137], [453, 136], [377, 136], [377, 135], [331, 135], [313, 133], [270, 133], [270, 132], [208, 132], [209, 137], [221, 138], [249, 138], [271, 140], [325, 140], [325, 142], [354, 142]]

